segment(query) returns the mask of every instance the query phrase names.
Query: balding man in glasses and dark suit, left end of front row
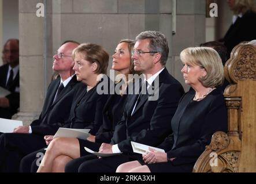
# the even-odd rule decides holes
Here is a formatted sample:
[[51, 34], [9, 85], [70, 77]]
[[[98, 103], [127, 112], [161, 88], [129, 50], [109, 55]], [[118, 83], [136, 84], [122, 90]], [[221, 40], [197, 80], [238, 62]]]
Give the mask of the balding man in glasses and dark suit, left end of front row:
[[42, 113], [30, 126], [20, 126], [14, 133], [0, 136], [0, 171], [15, 172], [23, 156], [46, 146], [44, 135], [54, 135], [68, 120], [77, 81], [74, 75], [72, 51], [79, 44], [61, 45], [54, 55], [53, 70], [60, 78], [50, 83]]

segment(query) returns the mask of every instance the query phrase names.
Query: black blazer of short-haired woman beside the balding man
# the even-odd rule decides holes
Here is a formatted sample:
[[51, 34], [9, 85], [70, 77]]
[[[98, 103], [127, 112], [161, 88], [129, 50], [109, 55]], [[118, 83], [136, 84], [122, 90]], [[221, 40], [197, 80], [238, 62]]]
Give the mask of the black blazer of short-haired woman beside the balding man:
[[109, 97], [107, 94], [98, 94], [97, 87], [109, 85], [109, 78], [104, 78], [95, 87], [87, 92], [87, 86], [81, 83], [76, 89], [75, 101], [71, 107], [68, 121], [65, 121], [65, 128], [91, 129], [89, 133], [96, 135], [102, 125], [102, 111]]

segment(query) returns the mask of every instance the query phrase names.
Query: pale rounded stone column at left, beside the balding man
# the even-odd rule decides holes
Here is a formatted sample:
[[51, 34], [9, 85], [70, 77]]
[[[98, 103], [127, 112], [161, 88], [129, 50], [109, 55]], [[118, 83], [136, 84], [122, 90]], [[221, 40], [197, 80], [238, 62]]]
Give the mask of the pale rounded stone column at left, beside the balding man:
[[[36, 16], [38, 0], [19, 1], [19, 37], [20, 37], [20, 112], [12, 118], [23, 120], [28, 125], [38, 118], [43, 105], [45, 91], [49, 84], [51, 67], [51, 35], [45, 32], [45, 17]], [[51, 16], [44, 12], [45, 16]], [[48, 18], [48, 17], [47, 17]], [[51, 22], [51, 18], [48, 18]], [[49, 25], [49, 28], [51, 24]], [[48, 28], [48, 27], [47, 27]], [[48, 34], [48, 35], [47, 35]], [[46, 38], [47, 37], [47, 42]], [[44, 44], [47, 44], [44, 47]], [[46, 49], [49, 49], [48, 52]], [[48, 55], [46, 55], [46, 53]], [[45, 58], [47, 56], [47, 58]]]

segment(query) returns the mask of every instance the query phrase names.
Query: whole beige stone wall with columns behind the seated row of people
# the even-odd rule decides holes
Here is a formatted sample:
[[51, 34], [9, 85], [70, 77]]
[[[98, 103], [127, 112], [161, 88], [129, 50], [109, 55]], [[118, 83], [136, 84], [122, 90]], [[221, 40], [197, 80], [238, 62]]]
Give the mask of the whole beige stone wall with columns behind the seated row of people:
[[[65, 40], [101, 44], [112, 55], [121, 39], [159, 30], [169, 41], [166, 68], [181, 83], [180, 51], [205, 41], [204, 0], [177, 0], [174, 36], [171, 0], [53, 0], [46, 1], [46, 17], [36, 17], [39, 2], [45, 1], [19, 1], [21, 113], [17, 118], [24, 113], [26, 118], [38, 116], [50, 83], [53, 53]], [[109, 68], [111, 63], [110, 57]]]

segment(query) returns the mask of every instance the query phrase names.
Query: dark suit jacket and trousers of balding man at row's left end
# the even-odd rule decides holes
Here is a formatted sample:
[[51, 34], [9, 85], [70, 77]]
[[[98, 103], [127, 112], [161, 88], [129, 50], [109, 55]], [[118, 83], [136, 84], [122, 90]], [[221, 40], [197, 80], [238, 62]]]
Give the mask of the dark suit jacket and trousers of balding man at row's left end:
[[[60, 78], [50, 83], [42, 113], [31, 124], [32, 133], [3, 133], [0, 136], [0, 172], [16, 172], [23, 156], [45, 147], [44, 135], [54, 135], [69, 118], [75, 91], [80, 83], [73, 76], [53, 102]], [[84, 85], [83, 85], [84, 86]]]

